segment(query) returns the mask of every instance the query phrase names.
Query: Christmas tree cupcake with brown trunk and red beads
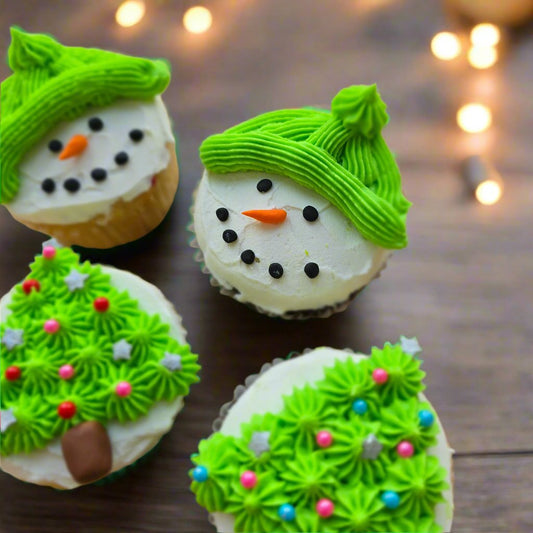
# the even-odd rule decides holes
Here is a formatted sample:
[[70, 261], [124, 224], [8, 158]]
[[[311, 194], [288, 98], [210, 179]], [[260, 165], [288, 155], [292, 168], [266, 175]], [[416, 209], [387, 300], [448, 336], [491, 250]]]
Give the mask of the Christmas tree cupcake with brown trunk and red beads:
[[57, 489], [108, 480], [167, 433], [198, 381], [153, 285], [45, 244], [0, 300], [1, 469]]

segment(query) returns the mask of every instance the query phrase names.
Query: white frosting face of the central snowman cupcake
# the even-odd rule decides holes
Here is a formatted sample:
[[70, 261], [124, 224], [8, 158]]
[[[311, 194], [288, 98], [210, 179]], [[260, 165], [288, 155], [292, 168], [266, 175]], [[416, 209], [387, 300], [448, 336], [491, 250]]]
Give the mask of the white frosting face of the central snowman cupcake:
[[[256, 188], [263, 178], [273, 183], [266, 193]], [[307, 205], [319, 212], [315, 222], [308, 222], [302, 215]], [[220, 207], [229, 211], [226, 222], [216, 217]], [[250, 209], [272, 208], [287, 212], [283, 223], [264, 224], [242, 215]], [[274, 314], [343, 302], [372, 280], [391, 254], [364, 239], [325, 198], [285, 176], [205, 171], [193, 218], [205, 265], [214, 278], [228, 290], [237, 289], [237, 300]], [[237, 233], [237, 241], [228, 244], [222, 239], [226, 229]], [[256, 256], [252, 265], [240, 259], [247, 249]], [[320, 273], [314, 279], [304, 273], [308, 262], [319, 265]], [[271, 263], [283, 266], [280, 279], [270, 276]]]

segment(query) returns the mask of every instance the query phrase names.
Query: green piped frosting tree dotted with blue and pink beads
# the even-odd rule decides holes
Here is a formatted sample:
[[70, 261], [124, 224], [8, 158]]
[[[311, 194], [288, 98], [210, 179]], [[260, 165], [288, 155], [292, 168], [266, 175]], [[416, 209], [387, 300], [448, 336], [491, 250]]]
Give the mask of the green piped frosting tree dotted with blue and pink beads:
[[[236, 532], [440, 533], [435, 511], [445, 501], [448, 473], [428, 455], [440, 429], [436, 416], [429, 425], [419, 417], [433, 413], [419, 398], [420, 365], [388, 343], [358, 362], [340, 358], [324, 368], [323, 378], [284, 396], [281, 411], [244, 422], [239, 438], [215, 433], [202, 440], [192, 461], [207, 478], [195, 480], [191, 471], [198, 503], [233, 515]], [[373, 380], [376, 368], [393, 386]], [[356, 414], [356, 399], [367, 402], [368, 411]], [[317, 434], [324, 431], [331, 442], [320, 445]], [[405, 440], [414, 446], [408, 458], [396, 449]], [[250, 470], [256, 484], [246, 488], [240, 477]], [[386, 492], [398, 495], [397, 507], [387, 507]], [[334, 504], [329, 517], [316, 511], [324, 498]], [[294, 520], [280, 517], [284, 504], [294, 508]]]

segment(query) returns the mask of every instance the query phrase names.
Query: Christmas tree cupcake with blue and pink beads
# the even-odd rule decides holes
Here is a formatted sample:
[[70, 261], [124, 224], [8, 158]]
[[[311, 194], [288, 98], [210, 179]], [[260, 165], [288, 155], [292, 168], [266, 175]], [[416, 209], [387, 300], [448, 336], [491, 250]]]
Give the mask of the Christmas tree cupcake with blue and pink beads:
[[322, 347], [249, 377], [192, 457], [217, 531], [449, 532], [452, 450], [418, 348]]

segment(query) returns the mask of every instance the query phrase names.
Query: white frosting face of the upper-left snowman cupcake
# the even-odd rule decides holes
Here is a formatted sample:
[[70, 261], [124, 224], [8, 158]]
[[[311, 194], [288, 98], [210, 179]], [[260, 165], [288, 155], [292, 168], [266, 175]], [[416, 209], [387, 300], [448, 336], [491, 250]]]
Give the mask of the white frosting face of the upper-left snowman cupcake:
[[[101, 129], [91, 119], [100, 119]], [[136, 130], [142, 138], [138, 132], [130, 136]], [[61, 150], [51, 150], [50, 142], [59, 141], [55, 144], [64, 148], [74, 135], [84, 135], [87, 147], [79, 155], [59, 159]], [[86, 222], [107, 213], [117, 200], [130, 201], [147, 191], [152, 177], [170, 162], [167, 143], [173, 144], [174, 138], [159, 96], [93, 108], [57, 125], [24, 156], [20, 190], [7, 207], [29, 222]]]

